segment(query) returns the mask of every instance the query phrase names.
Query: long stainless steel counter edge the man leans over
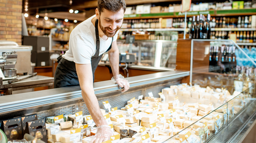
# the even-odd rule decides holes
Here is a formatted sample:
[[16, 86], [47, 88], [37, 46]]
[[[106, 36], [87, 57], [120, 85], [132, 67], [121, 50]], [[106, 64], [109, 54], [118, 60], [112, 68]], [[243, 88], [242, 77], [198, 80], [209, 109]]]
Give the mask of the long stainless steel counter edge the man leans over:
[[[126, 78], [130, 88], [163, 80], [171, 80], [189, 75], [189, 71], [164, 71]], [[121, 90], [111, 80], [94, 83], [96, 96], [102, 93]], [[23, 108], [45, 105], [53, 102], [82, 99], [80, 86], [62, 87], [0, 97], [0, 114], [18, 111]]]

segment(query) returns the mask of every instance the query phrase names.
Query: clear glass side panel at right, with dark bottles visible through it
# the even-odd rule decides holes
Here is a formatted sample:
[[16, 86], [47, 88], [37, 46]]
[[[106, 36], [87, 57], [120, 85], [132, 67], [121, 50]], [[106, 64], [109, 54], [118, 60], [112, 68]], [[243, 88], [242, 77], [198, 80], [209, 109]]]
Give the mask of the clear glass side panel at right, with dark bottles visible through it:
[[191, 40], [191, 49], [193, 85], [226, 89], [231, 94], [252, 85], [256, 73], [255, 47], [242, 49], [233, 40]]

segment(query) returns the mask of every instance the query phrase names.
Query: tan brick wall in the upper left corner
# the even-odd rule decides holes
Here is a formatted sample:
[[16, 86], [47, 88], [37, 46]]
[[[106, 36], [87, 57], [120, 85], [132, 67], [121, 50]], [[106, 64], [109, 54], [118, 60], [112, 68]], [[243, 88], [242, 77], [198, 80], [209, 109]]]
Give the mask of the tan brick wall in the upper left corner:
[[22, 0], [0, 0], [0, 40], [21, 45]]

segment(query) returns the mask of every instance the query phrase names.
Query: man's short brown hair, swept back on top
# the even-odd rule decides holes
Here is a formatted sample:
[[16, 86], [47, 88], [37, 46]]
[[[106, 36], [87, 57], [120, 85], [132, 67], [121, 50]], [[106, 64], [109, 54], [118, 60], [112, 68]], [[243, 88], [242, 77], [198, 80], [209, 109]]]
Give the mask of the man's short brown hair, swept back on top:
[[123, 8], [125, 12], [126, 3], [124, 0], [98, 0], [99, 13], [102, 12], [104, 8], [113, 12], [120, 11]]

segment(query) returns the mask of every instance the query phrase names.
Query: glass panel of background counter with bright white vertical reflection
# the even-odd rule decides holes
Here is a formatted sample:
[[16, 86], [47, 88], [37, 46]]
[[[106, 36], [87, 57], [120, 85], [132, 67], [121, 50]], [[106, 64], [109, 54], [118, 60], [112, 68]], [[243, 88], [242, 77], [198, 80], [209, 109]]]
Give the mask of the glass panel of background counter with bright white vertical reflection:
[[117, 46], [120, 53], [136, 54], [136, 65], [175, 69], [177, 41], [135, 40], [133, 44], [126, 44], [125, 40], [117, 40]]

